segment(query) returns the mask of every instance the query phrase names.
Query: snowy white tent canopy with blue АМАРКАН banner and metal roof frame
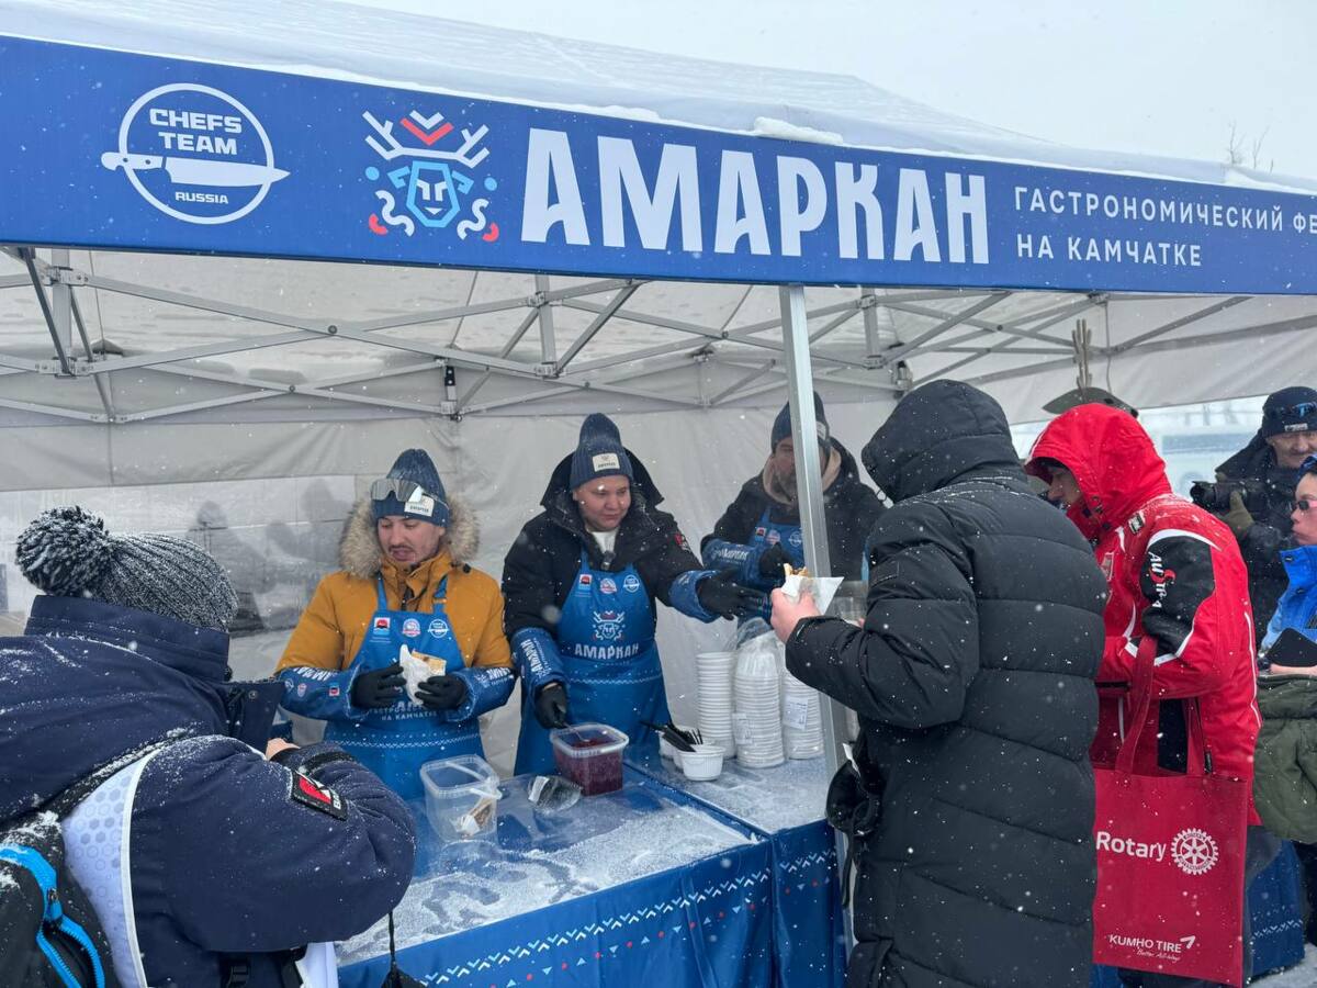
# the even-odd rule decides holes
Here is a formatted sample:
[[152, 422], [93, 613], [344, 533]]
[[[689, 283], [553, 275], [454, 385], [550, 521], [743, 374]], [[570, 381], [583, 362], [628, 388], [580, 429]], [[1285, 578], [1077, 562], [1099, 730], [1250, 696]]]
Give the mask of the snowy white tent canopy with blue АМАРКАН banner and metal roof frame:
[[[0, 242], [13, 245], [0, 257], [0, 411], [9, 424], [544, 415], [593, 407], [601, 395], [633, 411], [776, 406], [784, 371], [773, 286], [784, 281], [813, 285], [814, 369], [831, 402], [889, 403], [907, 382], [905, 364], [917, 382], [954, 375], [985, 386], [1014, 418], [1036, 418], [1073, 383], [1076, 317], [1093, 329], [1098, 383], [1135, 404], [1271, 390], [1293, 374], [1292, 333], [1317, 324], [1308, 296], [1317, 182], [1069, 149], [849, 76], [309, 1], [142, 0], [124, 9], [0, 0], [0, 46], [14, 55], [0, 65]], [[240, 169], [267, 178], [263, 202], [232, 221], [211, 221], [229, 207], [203, 200], [225, 187], [205, 191], [195, 174], [205, 165], [192, 159], [213, 146], [184, 148], [188, 159], [174, 162], [180, 178], [166, 179], [166, 155], [179, 145], [145, 148], [129, 126], [134, 99], [199, 80], [241, 91], [274, 134], [267, 161], [258, 146], [234, 144], [246, 157]], [[171, 109], [149, 103], [142, 120]], [[203, 108], [223, 111], [213, 100]], [[46, 126], [53, 109], [59, 125]], [[366, 140], [386, 130], [402, 134], [407, 154], [424, 154], [446, 126], [432, 116], [439, 109], [458, 133], [464, 112], [499, 124], [489, 138], [498, 165], [485, 178], [523, 202], [490, 195], [475, 231], [483, 236], [454, 236], [464, 221], [477, 227], [465, 212], [412, 236], [420, 224], [389, 180], [398, 199], [403, 186], [414, 196], [437, 183], [417, 184], [415, 165], [410, 179], [365, 167], [383, 163]], [[402, 130], [408, 121], [415, 138]], [[540, 203], [540, 240], [527, 237], [532, 130], [562, 134], [541, 142], [541, 166], [552, 170], [564, 145], [576, 153], [587, 246], [570, 241], [572, 216], [545, 220], [562, 170], [545, 180], [553, 191]], [[608, 186], [591, 158], [595, 137], [620, 149], [611, 187], [632, 211], [618, 207], [612, 236], [622, 242], [611, 246], [597, 208]], [[661, 199], [655, 171], [669, 148], [678, 151], [666, 238], [637, 244], [635, 211], [645, 196]], [[697, 153], [691, 183], [703, 211], [687, 228], [684, 196], [695, 196], [680, 184], [681, 167]], [[627, 154], [648, 186], [639, 196]], [[757, 167], [763, 231], [745, 204], [747, 161]], [[867, 188], [868, 167], [876, 178]], [[449, 178], [482, 178], [468, 170]], [[286, 177], [270, 178], [277, 171]], [[724, 217], [728, 175], [740, 184]], [[827, 196], [817, 223], [807, 215], [815, 175]], [[843, 178], [848, 209], [836, 204]], [[145, 194], [159, 192], [157, 179], [190, 196], [170, 200], [173, 215]], [[954, 195], [960, 212], [930, 233], [932, 213], [922, 211], [950, 217]], [[421, 204], [410, 208], [424, 223]], [[190, 209], [211, 219], [178, 216]], [[500, 237], [489, 241], [495, 212]], [[724, 219], [731, 248], [710, 249]], [[49, 246], [28, 257], [22, 245]], [[49, 295], [62, 362], [32, 271]], [[88, 356], [103, 337], [122, 356]], [[55, 371], [71, 378], [53, 387]]]

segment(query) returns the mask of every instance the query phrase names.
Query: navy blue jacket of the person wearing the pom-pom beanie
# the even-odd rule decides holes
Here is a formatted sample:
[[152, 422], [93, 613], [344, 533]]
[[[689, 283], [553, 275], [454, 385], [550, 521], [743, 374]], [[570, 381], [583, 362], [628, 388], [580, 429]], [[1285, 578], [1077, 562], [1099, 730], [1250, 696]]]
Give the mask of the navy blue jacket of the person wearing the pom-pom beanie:
[[[132, 888], [148, 980], [219, 985], [223, 954], [344, 939], [411, 879], [404, 804], [332, 744], [267, 761], [283, 688], [225, 682], [228, 635], [99, 601], [38, 597], [26, 634], [0, 638], [0, 822], [161, 738], [138, 782]], [[292, 798], [294, 771], [342, 798], [345, 819]]]

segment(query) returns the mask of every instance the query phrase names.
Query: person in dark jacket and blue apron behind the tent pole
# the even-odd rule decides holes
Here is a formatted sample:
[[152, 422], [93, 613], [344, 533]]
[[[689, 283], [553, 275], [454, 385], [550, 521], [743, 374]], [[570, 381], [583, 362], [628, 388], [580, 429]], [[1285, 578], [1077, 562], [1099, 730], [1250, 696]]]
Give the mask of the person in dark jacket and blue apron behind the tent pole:
[[[865, 540], [885, 508], [878, 495], [860, 480], [855, 457], [832, 436], [818, 394], [814, 395], [814, 416], [832, 576], [861, 580], [868, 572]], [[705, 565], [730, 570], [743, 584], [760, 590], [782, 585], [784, 563], [803, 565], [790, 404], [784, 404], [773, 420], [764, 469], [741, 485], [699, 551]]]

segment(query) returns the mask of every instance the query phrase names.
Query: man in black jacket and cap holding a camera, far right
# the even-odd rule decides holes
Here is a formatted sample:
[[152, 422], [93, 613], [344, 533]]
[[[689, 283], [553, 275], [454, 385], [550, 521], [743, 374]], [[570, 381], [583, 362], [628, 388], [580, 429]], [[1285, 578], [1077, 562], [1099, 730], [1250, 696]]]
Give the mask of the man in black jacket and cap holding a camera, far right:
[[1283, 387], [1263, 403], [1258, 435], [1217, 468], [1217, 482], [1195, 483], [1191, 490], [1193, 501], [1230, 526], [1239, 541], [1259, 642], [1289, 582], [1280, 551], [1292, 544], [1295, 483], [1313, 453], [1317, 390]]

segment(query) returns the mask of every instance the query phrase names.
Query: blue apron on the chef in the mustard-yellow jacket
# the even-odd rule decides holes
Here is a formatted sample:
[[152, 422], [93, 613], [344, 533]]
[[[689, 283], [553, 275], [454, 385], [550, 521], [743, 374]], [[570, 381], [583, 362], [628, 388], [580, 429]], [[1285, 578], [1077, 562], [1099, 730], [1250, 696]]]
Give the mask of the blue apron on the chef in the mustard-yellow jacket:
[[[429, 614], [391, 611], [385, 597], [385, 581], [378, 580], [378, 609], [370, 618], [366, 639], [348, 668], [354, 674], [383, 669], [398, 661], [402, 645], [445, 660], [448, 672], [464, 668], [462, 649], [444, 611], [446, 589], [448, 577], [444, 577], [435, 590]], [[412, 702], [407, 694], [390, 707], [369, 710], [363, 719], [329, 721], [325, 740], [342, 746], [404, 800], [424, 794], [420, 767], [427, 761], [485, 755], [479, 718], [450, 723], [436, 711]]]

